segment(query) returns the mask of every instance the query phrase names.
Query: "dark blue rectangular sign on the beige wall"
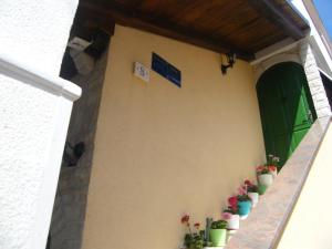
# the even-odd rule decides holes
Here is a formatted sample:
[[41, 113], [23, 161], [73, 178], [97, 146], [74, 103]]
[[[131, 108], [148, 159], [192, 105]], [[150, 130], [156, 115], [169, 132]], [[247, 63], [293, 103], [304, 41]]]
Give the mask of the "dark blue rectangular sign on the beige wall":
[[152, 55], [152, 70], [181, 87], [181, 72], [156, 53]]

